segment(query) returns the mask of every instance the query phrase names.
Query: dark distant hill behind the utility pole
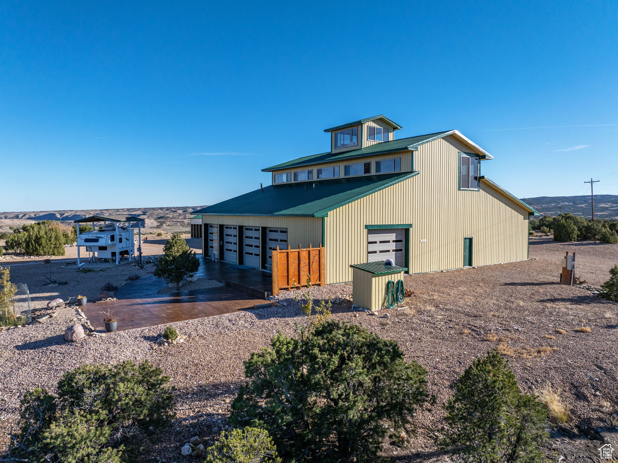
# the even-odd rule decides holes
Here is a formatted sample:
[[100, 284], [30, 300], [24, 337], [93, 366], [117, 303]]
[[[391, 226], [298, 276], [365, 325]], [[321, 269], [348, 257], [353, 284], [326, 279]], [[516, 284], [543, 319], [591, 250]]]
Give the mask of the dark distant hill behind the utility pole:
[[[537, 198], [522, 198], [522, 201], [535, 208], [542, 216], [559, 215], [570, 212], [574, 215], [590, 219], [590, 195], [584, 196], [540, 196]], [[595, 218], [618, 219], [618, 195], [595, 195]]]

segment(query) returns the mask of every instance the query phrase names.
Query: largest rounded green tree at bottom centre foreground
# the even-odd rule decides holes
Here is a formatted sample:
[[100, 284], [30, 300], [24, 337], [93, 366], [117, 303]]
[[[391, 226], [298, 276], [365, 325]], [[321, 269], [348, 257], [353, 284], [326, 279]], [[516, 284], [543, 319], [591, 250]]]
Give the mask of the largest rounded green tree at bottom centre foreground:
[[231, 420], [268, 431], [284, 459], [377, 462], [389, 431], [413, 431], [425, 375], [395, 341], [326, 321], [300, 339], [279, 332], [251, 355]]

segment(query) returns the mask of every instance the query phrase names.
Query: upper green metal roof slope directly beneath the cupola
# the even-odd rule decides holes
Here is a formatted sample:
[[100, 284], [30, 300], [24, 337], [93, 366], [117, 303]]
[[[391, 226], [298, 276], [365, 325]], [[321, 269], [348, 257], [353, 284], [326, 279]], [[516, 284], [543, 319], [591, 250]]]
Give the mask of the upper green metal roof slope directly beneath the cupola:
[[358, 158], [362, 156], [373, 156], [381, 153], [389, 153], [391, 151], [410, 150], [418, 147], [423, 143], [431, 142], [436, 138], [444, 137], [454, 133], [455, 130], [446, 130], [445, 132], [436, 132], [435, 134], [417, 135], [416, 137], [400, 138], [399, 140], [391, 140], [390, 142], [376, 143], [360, 150], [345, 151], [344, 153], [320, 153], [318, 155], [303, 156], [302, 158], [292, 159], [285, 163], [276, 164], [275, 166], [262, 169], [262, 172], [276, 171], [278, 169], [294, 168], [298, 166], [307, 166], [317, 163], [330, 163], [341, 161], [341, 159]]

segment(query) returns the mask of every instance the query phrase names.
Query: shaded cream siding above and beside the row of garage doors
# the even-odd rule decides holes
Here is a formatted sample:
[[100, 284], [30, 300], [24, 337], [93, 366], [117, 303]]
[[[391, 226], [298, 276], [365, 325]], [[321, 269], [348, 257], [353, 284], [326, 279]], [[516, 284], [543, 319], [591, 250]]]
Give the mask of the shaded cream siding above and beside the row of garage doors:
[[247, 227], [287, 228], [291, 247], [318, 247], [322, 242], [322, 219], [318, 217], [226, 216], [203, 215], [204, 223], [232, 224]]

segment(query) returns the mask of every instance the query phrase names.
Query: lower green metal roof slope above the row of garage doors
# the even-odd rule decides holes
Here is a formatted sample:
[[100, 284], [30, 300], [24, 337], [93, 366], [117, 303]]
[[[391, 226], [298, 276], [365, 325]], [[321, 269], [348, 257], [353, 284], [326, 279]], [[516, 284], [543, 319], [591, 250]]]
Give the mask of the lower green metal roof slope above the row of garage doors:
[[[329, 211], [397, 184], [418, 172], [268, 185], [195, 211], [201, 215], [328, 217]], [[315, 188], [314, 188], [315, 185]]]

